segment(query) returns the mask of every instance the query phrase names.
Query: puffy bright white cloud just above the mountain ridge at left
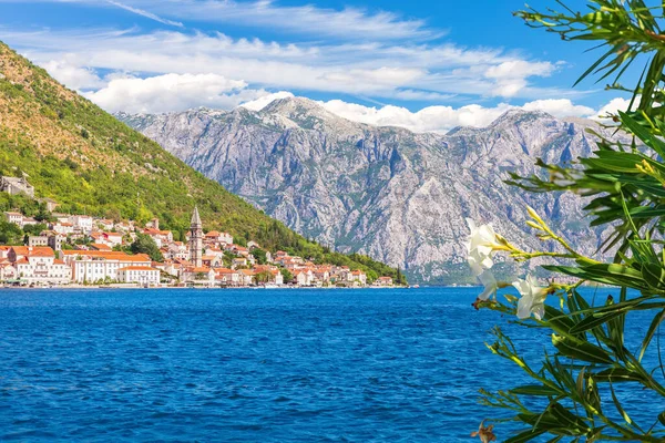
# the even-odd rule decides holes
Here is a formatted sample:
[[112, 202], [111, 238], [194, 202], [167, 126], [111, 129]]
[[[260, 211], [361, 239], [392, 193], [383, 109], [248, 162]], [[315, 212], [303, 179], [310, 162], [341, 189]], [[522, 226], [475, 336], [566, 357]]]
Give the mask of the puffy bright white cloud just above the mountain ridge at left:
[[161, 113], [208, 106], [232, 109], [267, 94], [247, 83], [217, 74], [166, 74], [147, 79], [120, 78], [84, 95], [109, 112]]

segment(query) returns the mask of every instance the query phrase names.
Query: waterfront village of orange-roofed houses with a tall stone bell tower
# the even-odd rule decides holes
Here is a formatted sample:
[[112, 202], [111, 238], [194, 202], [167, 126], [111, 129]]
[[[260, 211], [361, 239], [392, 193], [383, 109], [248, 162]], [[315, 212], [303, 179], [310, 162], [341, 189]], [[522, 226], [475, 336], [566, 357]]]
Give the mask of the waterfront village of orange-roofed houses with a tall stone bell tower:
[[[34, 198], [34, 188], [24, 177], [0, 177], [0, 192]], [[172, 231], [160, 229], [156, 218], [137, 226], [131, 220], [116, 223], [88, 215], [58, 214], [57, 202], [41, 202], [53, 216], [53, 222], [47, 223], [48, 229], [28, 236], [23, 246], [0, 246], [3, 286], [361, 288], [369, 284], [361, 270], [316, 265], [282, 250], [264, 250], [252, 240], [239, 246], [228, 233], [204, 234], [197, 208], [193, 210], [186, 241], [175, 241]], [[40, 224], [19, 212], [6, 212], [4, 217], [21, 229]], [[163, 260], [123, 250], [140, 235], [154, 241]], [[380, 277], [370, 286], [392, 287], [393, 281]]]

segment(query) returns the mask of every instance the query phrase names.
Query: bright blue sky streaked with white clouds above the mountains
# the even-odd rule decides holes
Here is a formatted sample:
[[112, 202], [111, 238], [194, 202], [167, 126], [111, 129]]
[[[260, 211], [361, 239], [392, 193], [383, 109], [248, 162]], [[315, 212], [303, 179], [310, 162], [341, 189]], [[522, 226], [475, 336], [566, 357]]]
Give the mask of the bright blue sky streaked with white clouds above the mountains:
[[[536, 0], [536, 9], [554, 6]], [[573, 9], [585, 2], [569, 0]], [[415, 131], [511, 106], [592, 116], [584, 43], [525, 27], [519, 0], [0, 0], [0, 40], [115, 112], [260, 109], [290, 94]]]

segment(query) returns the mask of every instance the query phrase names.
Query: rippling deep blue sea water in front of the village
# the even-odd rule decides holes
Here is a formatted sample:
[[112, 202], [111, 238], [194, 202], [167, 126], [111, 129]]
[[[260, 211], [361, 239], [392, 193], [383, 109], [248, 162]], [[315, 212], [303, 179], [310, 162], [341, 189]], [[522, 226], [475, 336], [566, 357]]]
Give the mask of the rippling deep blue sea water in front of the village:
[[529, 382], [490, 329], [550, 342], [477, 293], [0, 290], [0, 441], [469, 442], [478, 390]]

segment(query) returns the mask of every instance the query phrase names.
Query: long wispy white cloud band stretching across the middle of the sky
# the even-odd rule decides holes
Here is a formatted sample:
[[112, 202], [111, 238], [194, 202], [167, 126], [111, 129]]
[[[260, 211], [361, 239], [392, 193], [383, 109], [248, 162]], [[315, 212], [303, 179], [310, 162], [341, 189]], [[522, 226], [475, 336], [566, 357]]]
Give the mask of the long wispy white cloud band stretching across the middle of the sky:
[[[1, 0], [0, 0], [1, 1]], [[522, 60], [500, 50], [453, 44], [395, 45], [277, 43], [219, 33], [135, 30], [8, 31], [37, 63], [75, 59], [78, 66], [154, 74], [215, 73], [257, 87], [441, 102], [451, 95], [548, 99], [556, 89], [530, 84], [555, 64]], [[68, 52], [63, 53], [62, 48]]]

